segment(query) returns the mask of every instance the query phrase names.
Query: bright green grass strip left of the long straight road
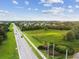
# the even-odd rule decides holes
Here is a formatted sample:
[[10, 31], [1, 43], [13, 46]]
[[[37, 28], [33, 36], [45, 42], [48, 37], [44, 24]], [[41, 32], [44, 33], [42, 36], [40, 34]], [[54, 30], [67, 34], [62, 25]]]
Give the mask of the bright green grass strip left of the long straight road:
[[12, 27], [11, 24], [10, 31], [7, 32], [7, 40], [0, 46], [0, 59], [19, 59]]

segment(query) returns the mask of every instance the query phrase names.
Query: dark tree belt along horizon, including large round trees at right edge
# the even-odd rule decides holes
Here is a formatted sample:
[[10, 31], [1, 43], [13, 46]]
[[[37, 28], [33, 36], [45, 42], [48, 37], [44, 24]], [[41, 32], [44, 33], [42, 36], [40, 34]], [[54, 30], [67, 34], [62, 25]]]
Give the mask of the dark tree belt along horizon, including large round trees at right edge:
[[79, 39], [79, 22], [54, 22], [54, 21], [33, 21], [33, 22], [17, 22], [16, 25], [22, 31], [26, 30], [39, 30], [39, 29], [55, 29], [55, 30], [68, 30], [64, 36], [64, 40], [73, 41]]

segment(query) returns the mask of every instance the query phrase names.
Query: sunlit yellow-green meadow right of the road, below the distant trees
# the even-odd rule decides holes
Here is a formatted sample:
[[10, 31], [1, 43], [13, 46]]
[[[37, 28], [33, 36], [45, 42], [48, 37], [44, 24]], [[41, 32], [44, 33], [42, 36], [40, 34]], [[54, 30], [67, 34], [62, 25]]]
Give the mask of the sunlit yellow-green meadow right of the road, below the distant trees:
[[24, 32], [30, 40], [38, 47], [43, 45], [45, 41], [48, 43], [58, 43], [63, 40], [63, 36], [67, 31], [63, 30], [34, 30]]

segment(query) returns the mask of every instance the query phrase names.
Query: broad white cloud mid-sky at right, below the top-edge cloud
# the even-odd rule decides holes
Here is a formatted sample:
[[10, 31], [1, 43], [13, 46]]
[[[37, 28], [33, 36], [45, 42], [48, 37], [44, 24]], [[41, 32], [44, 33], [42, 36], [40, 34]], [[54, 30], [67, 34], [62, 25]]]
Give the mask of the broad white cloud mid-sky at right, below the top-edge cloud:
[[53, 16], [66, 16], [66, 15], [73, 15], [74, 14], [74, 9], [70, 8], [62, 8], [62, 7], [53, 7], [48, 10], [42, 10], [43, 14], [46, 15], [53, 15]]

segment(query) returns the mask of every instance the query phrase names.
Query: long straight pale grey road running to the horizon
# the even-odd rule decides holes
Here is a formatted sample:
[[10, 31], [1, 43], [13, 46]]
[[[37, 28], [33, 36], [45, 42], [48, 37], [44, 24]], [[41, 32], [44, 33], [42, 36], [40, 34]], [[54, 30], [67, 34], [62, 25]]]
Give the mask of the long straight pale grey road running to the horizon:
[[15, 25], [14, 35], [16, 38], [19, 59], [38, 59]]

